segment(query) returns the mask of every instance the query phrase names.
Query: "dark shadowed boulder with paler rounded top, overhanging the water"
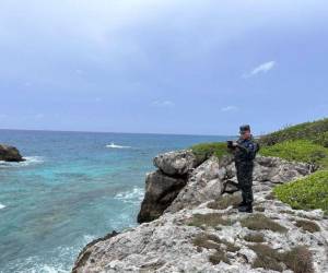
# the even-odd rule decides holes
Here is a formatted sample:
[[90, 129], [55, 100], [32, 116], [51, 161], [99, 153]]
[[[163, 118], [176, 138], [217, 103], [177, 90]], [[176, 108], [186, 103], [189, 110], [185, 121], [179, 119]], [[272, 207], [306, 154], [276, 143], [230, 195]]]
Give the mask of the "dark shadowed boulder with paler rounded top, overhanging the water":
[[157, 155], [153, 164], [159, 169], [148, 174], [145, 178], [145, 195], [137, 216], [138, 223], [161, 216], [187, 183], [190, 171], [200, 163], [190, 150]]

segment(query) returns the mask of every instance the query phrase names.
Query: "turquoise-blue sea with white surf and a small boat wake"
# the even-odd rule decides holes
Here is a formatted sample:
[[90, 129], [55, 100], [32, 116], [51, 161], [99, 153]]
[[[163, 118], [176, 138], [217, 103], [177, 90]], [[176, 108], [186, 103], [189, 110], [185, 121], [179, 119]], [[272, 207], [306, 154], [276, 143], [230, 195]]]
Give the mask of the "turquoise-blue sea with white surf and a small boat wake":
[[152, 158], [229, 136], [0, 130], [0, 272], [70, 272], [91, 240], [137, 224]]

